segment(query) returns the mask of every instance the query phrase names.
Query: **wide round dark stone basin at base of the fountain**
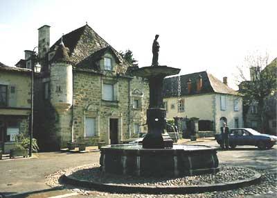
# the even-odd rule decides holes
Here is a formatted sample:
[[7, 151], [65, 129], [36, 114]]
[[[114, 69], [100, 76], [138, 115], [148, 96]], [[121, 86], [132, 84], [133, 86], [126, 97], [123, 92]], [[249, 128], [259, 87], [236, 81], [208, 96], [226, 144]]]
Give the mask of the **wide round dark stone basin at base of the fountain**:
[[215, 147], [173, 145], [143, 149], [142, 145], [101, 147], [102, 172], [136, 176], [184, 176], [219, 171]]

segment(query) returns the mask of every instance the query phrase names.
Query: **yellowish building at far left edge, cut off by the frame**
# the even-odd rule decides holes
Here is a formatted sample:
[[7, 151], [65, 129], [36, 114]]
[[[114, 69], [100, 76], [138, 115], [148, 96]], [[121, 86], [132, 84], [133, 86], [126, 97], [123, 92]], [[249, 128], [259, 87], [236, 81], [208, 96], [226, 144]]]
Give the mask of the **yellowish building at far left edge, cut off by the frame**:
[[0, 63], [0, 149], [15, 145], [15, 135], [28, 134], [31, 102], [31, 70]]

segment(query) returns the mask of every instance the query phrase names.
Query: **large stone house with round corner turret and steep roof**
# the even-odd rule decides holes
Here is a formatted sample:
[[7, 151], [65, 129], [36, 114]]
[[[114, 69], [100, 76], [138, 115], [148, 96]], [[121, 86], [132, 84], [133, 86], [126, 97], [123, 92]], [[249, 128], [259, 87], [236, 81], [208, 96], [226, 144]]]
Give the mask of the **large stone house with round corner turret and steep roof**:
[[17, 67], [29, 63], [37, 71], [34, 136], [42, 149], [64, 148], [78, 138], [87, 145], [119, 144], [147, 131], [148, 81], [129, 75], [132, 65], [118, 51], [87, 24], [52, 46], [50, 26], [38, 31], [36, 59]]

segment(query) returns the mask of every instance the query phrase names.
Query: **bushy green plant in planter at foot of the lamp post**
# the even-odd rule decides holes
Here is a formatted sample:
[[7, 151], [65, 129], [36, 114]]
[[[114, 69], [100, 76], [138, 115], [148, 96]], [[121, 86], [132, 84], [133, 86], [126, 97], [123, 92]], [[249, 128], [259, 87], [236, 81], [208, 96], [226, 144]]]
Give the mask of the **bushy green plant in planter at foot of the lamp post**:
[[[28, 148], [30, 147], [30, 138], [26, 138], [24, 134], [16, 135], [15, 137], [15, 148], [10, 149], [10, 158], [15, 158], [16, 156], [28, 156]], [[37, 140], [33, 138], [32, 140], [32, 151], [37, 152], [39, 147], [37, 146]]]

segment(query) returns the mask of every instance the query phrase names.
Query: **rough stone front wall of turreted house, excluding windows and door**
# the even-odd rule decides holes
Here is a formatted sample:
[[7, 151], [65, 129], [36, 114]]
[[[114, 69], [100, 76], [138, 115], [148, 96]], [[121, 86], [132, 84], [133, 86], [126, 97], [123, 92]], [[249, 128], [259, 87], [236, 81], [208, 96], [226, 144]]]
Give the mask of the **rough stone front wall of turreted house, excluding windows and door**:
[[[116, 101], [102, 99], [102, 85], [105, 82], [117, 86]], [[96, 136], [84, 138], [91, 145], [96, 145], [98, 140], [109, 140], [109, 119], [118, 119], [118, 143], [132, 135], [134, 120], [139, 124], [146, 122], [146, 109], [148, 106], [148, 83], [142, 79], [115, 76], [113, 73], [102, 76], [100, 74], [75, 71], [73, 73], [73, 133], [74, 138], [84, 138], [84, 120], [91, 117], [96, 120]], [[129, 97], [130, 90], [130, 97]], [[141, 90], [141, 108], [133, 108], [132, 90]], [[145, 94], [146, 93], [146, 94]], [[143, 113], [143, 116], [141, 116]]]

